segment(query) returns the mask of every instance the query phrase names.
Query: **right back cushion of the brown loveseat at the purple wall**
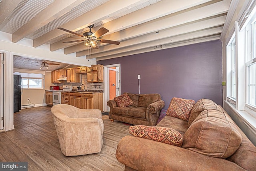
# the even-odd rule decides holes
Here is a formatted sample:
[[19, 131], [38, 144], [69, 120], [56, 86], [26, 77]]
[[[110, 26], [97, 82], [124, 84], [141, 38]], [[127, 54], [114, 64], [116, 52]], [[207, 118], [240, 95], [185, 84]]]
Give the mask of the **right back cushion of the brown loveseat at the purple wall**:
[[160, 94], [140, 94], [138, 107], [148, 107], [148, 105], [158, 100], [161, 100]]

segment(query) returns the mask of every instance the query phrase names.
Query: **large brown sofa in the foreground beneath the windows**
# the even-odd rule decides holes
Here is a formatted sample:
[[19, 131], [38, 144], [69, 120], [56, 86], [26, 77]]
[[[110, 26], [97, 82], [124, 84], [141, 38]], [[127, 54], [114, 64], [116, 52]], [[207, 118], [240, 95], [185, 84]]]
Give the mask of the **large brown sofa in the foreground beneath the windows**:
[[126, 171], [249, 170], [256, 169], [256, 147], [224, 109], [200, 99], [188, 121], [166, 115], [158, 124], [179, 131], [182, 147], [126, 136], [116, 158]]

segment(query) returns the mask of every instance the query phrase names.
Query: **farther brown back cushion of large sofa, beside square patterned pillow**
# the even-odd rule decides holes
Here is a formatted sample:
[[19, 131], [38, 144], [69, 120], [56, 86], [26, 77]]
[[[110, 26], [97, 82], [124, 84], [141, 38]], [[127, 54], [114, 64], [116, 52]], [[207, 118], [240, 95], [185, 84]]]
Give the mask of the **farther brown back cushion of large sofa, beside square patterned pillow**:
[[222, 109], [212, 100], [209, 99], [200, 99], [196, 102], [196, 104], [192, 107], [189, 119], [188, 126], [196, 119], [196, 117], [206, 109], [217, 109], [222, 111]]

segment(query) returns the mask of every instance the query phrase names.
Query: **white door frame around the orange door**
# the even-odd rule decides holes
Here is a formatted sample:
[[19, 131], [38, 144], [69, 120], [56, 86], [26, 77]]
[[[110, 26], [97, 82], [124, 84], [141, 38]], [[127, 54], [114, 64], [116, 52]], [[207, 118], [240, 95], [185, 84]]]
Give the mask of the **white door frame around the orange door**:
[[[119, 67], [119, 73], [118, 77], [116, 77], [116, 82], [118, 82], [119, 85], [119, 94], [121, 94], [121, 64], [112, 64], [112, 65], [106, 65], [104, 66], [104, 93], [103, 93], [103, 111], [109, 111], [109, 107], [107, 105], [108, 99], [109, 99], [109, 74], [108, 74], [108, 68], [110, 67]], [[119, 80], [118, 80], [119, 78]]]

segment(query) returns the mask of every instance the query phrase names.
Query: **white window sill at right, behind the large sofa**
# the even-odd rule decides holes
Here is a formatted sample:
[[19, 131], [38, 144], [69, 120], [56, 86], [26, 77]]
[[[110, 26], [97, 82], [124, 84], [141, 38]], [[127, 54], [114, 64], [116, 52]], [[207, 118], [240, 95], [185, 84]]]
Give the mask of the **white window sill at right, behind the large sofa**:
[[236, 109], [236, 106], [229, 101], [225, 101], [227, 105], [230, 106], [230, 108], [234, 111], [234, 113], [240, 118], [242, 119], [242, 121], [247, 125], [247, 127], [256, 134], [256, 115], [252, 115], [252, 114], [256, 114], [256, 113], [248, 113], [247, 111], [240, 111]]

